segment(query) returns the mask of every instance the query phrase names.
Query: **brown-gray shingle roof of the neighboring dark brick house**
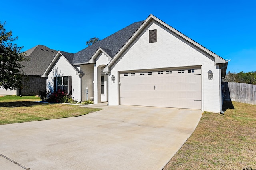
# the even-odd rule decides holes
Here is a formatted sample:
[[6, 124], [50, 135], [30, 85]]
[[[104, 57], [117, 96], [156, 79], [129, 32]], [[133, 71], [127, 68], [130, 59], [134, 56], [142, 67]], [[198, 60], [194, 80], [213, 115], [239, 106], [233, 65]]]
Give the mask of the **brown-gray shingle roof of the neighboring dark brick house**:
[[25, 51], [26, 58], [30, 58], [29, 61], [23, 61], [23, 70], [26, 75], [42, 75], [48, 65], [51, 63], [53, 56], [57, 51], [50, 49], [44, 45], [37, 45], [31, 49]]

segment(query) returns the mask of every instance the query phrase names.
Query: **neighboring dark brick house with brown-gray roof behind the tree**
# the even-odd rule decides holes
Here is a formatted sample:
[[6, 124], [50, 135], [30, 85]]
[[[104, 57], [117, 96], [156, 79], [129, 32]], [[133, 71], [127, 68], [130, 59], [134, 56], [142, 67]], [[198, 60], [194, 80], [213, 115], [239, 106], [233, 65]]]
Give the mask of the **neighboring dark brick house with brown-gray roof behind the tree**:
[[39, 95], [39, 91], [46, 90], [46, 77], [42, 74], [51, 63], [57, 51], [44, 45], [37, 45], [27, 51], [29, 61], [22, 62], [26, 81], [22, 81], [22, 87], [16, 90], [0, 89], [0, 95]]

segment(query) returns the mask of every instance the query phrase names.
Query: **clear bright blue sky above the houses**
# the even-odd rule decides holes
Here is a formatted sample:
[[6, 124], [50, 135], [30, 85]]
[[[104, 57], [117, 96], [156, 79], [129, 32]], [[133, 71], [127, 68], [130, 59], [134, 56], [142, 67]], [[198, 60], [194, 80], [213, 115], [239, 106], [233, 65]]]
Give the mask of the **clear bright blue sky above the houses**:
[[2, 0], [0, 21], [26, 51], [38, 44], [76, 53], [153, 14], [224, 59], [256, 71], [256, 0]]

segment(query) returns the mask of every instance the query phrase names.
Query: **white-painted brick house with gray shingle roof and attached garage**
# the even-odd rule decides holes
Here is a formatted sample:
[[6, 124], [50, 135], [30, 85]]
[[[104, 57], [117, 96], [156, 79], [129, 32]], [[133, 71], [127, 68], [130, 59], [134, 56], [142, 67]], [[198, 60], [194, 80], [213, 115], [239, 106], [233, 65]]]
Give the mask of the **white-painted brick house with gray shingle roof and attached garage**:
[[[43, 77], [54, 91], [58, 83], [54, 77], [69, 76], [70, 85], [65, 88], [78, 101], [86, 100], [88, 87], [88, 97], [93, 97], [94, 103], [218, 113], [227, 64], [150, 15], [78, 53], [59, 51]], [[212, 71], [212, 79], [208, 71]]]

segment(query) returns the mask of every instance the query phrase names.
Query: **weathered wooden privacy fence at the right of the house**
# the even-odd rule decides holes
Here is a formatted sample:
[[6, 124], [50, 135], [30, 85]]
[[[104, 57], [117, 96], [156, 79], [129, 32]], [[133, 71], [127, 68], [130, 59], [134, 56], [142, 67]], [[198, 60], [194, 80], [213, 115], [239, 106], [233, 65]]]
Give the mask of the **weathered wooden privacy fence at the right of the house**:
[[222, 88], [224, 100], [256, 105], [256, 85], [223, 82]]

